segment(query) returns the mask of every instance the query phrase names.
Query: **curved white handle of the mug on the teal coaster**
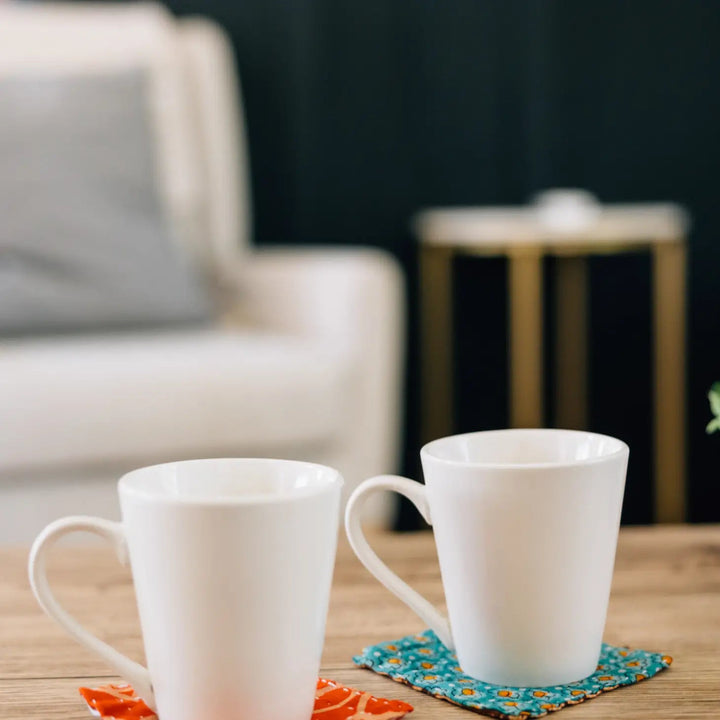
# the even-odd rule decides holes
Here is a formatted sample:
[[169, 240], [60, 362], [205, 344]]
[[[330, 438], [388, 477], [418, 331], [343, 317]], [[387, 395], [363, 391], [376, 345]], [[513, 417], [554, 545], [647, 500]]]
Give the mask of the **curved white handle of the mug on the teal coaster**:
[[345, 531], [350, 546], [355, 551], [360, 562], [391, 592], [397, 595], [406, 605], [414, 610], [424, 623], [440, 638], [442, 643], [454, 650], [450, 623], [433, 605], [420, 593], [413, 590], [406, 582], [401, 580], [377, 556], [370, 547], [360, 524], [362, 506], [367, 497], [379, 490], [393, 490], [405, 496], [417, 508], [425, 521], [432, 525], [430, 519], [430, 506], [427, 502], [425, 486], [414, 480], [398, 477], [397, 475], [379, 475], [363, 482], [348, 500], [345, 510]]

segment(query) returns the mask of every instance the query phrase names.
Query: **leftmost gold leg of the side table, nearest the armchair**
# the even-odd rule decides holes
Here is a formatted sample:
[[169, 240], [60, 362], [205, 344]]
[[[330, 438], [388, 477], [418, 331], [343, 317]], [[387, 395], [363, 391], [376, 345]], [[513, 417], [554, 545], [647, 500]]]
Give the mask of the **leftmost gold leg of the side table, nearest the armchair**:
[[452, 250], [420, 251], [422, 442], [453, 431]]

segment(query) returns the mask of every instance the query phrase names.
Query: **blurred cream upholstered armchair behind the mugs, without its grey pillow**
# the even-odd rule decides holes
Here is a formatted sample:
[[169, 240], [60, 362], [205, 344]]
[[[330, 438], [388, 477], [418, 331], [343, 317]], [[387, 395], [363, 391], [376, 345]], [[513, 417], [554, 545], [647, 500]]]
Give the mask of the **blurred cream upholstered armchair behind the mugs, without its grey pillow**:
[[[346, 496], [394, 472], [400, 271], [367, 248], [251, 247], [222, 30], [156, 5], [0, 6], [0, 71], [27, 65], [148, 68], [169, 222], [221, 311], [211, 327], [0, 338], [0, 542], [65, 514], [116, 517], [117, 478], [146, 464], [312, 460], [340, 469]], [[387, 520], [389, 508], [373, 513]]]

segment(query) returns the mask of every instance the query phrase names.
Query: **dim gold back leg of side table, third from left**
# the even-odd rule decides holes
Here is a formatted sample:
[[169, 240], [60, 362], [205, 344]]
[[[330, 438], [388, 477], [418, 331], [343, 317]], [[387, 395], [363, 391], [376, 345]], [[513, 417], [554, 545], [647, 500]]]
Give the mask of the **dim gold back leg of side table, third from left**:
[[555, 274], [555, 424], [587, 427], [587, 259], [558, 257]]

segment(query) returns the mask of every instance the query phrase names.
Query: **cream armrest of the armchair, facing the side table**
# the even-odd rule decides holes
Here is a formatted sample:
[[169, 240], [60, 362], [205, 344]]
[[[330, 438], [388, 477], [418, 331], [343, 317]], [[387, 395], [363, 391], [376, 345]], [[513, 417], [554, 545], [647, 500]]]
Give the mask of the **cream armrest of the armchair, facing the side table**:
[[[393, 257], [371, 248], [255, 251], [239, 305], [259, 330], [296, 334], [347, 354], [352, 373], [341, 444], [346, 490], [397, 472], [402, 428], [405, 288]], [[349, 471], [352, 468], [352, 472]]]

